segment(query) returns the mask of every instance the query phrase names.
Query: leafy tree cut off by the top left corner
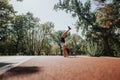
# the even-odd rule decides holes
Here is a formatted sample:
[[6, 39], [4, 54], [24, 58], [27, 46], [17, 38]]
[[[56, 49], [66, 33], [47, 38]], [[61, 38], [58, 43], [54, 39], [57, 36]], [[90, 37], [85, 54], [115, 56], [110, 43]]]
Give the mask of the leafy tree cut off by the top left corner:
[[15, 11], [8, 0], [0, 1], [0, 40], [6, 39], [6, 28], [11, 19], [13, 19]]

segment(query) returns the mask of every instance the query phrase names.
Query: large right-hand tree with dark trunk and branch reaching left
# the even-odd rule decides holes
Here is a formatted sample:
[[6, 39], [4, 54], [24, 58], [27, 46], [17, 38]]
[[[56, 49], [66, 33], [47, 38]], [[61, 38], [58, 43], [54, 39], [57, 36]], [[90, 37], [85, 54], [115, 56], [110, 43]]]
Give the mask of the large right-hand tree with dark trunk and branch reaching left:
[[[113, 5], [115, 4], [118, 4], [118, 3], [113, 3]], [[115, 25], [119, 25], [120, 22], [119, 20], [118, 21], [115, 20], [116, 22], [114, 23], [113, 21], [111, 24], [110, 21], [106, 21], [102, 19], [103, 21], [102, 23], [105, 23], [105, 25], [110, 24], [109, 26], [107, 26], [108, 28], [104, 28], [104, 26], [99, 23], [99, 20], [98, 20], [99, 18], [97, 18], [98, 15], [95, 15], [95, 12], [91, 12], [90, 7], [91, 7], [90, 0], [88, 0], [84, 5], [82, 2], [80, 2], [80, 0], [63, 0], [63, 1], [60, 0], [59, 3], [57, 3], [54, 6], [54, 9], [65, 10], [66, 12], [70, 12], [73, 17], [77, 17], [78, 18], [77, 29], [79, 28], [82, 29], [83, 35], [86, 36], [86, 39], [92, 39], [93, 41], [96, 39], [102, 40], [104, 44], [103, 55], [114, 56], [109, 45], [109, 37], [112, 36], [111, 31], [114, 30], [113, 27], [115, 27]], [[112, 11], [114, 10], [115, 10], [115, 14], [118, 14], [117, 16], [119, 16], [119, 12], [118, 12], [119, 6], [118, 8], [114, 7]], [[106, 13], [107, 13], [107, 10], [103, 14], [106, 14]], [[114, 14], [114, 12], [112, 14]], [[114, 16], [112, 15], [112, 17]], [[119, 19], [119, 17], [117, 18]], [[89, 33], [90, 33], [90, 36], [88, 37]]]

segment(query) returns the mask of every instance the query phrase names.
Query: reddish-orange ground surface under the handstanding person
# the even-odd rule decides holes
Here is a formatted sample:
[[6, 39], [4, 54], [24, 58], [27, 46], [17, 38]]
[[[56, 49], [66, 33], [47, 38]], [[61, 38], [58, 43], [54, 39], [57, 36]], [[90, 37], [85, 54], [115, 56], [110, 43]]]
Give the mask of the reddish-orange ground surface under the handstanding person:
[[38, 56], [0, 75], [0, 80], [120, 80], [120, 58]]

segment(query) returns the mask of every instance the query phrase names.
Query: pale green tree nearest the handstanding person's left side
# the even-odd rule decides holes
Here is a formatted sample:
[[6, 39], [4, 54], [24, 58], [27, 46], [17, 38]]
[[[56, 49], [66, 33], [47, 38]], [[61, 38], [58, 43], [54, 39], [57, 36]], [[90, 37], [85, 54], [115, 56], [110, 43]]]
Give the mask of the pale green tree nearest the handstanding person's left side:
[[38, 28], [38, 55], [40, 54], [48, 54], [51, 48], [51, 33], [54, 30], [54, 24], [52, 22], [46, 22], [40, 24]]

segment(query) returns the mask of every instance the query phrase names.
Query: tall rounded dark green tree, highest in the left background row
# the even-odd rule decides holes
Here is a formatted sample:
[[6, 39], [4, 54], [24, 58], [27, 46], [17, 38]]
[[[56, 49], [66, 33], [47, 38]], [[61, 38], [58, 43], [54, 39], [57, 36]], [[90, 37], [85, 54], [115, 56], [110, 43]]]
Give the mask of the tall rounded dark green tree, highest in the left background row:
[[17, 53], [32, 53], [33, 48], [31, 49], [31, 46], [34, 46], [33, 43], [31, 43], [33, 38], [30, 36], [30, 30], [33, 30], [33, 28], [37, 27], [39, 23], [38, 18], [33, 17], [32, 13], [27, 13], [26, 15], [17, 15], [13, 21], [11, 21], [11, 35], [14, 37], [12, 38], [15, 43], [15, 48]]

